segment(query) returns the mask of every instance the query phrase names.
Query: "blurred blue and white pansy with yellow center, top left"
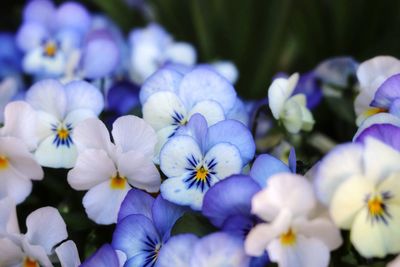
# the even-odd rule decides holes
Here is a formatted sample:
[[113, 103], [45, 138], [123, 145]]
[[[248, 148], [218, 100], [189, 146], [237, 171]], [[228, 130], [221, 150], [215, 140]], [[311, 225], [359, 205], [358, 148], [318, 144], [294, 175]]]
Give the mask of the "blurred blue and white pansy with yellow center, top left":
[[24, 71], [39, 77], [62, 75], [70, 54], [80, 48], [90, 23], [89, 12], [79, 3], [66, 2], [56, 8], [51, 1], [30, 1], [16, 36], [25, 53]]

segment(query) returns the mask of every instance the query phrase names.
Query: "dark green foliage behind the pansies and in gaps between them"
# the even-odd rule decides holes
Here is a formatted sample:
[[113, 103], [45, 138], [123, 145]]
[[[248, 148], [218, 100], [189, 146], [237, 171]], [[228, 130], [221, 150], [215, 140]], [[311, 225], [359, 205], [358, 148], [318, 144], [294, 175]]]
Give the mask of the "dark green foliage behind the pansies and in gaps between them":
[[[134, 8], [125, 1], [140, 2], [79, 2], [92, 12], [107, 14], [125, 34], [155, 20], [176, 40], [191, 42], [199, 62], [232, 60], [240, 72], [236, 89], [246, 99], [265, 97], [277, 72], [304, 73], [330, 57], [347, 55], [357, 61], [381, 54], [400, 57], [398, 0], [148, 0], [150, 8]], [[13, 0], [0, 9], [0, 30], [18, 29], [24, 5], [24, 0]], [[336, 142], [351, 140], [352, 97], [325, 99], [313, 112], [316, 131]], [[44, 181], [35, 183], [31, 196], [19, 206], [20, 224], [24, 230], [27, 214], [40, 206], [57, 205], [83, 259], [110, 242], [113, 226], [96, 226], [86, 217], [81, 204], [84, 192], [69, 188], [66, 173], [46, 169]], [[196, 215], [186, 219], [193, 222]]]

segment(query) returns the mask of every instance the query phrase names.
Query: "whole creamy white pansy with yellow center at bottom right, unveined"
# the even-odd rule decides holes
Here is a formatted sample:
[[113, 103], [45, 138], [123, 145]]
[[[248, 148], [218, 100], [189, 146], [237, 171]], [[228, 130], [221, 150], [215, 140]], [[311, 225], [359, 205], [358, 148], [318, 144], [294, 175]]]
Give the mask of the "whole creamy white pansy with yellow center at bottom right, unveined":
[[265, 250], [279, 266], [322, 267], [341, 244], [339, 230], [324, 217], [310, 219], [316, 205], [312, 185], [302, 176], [278, 173], [252, 199], [252, 213], [268, 223], [257, 224], [246, 237], [249, 255]]

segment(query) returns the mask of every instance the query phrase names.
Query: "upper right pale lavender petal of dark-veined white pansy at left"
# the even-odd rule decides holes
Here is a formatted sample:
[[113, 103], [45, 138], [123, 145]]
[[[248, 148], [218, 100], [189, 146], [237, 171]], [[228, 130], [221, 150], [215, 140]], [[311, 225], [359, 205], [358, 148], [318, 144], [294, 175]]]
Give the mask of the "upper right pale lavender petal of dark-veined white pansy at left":
[[85, 81], [73, 81], [65, 86], [67, 113], [76, 109], [89, 109], [99, 115], [104, 107], [100, 90]]

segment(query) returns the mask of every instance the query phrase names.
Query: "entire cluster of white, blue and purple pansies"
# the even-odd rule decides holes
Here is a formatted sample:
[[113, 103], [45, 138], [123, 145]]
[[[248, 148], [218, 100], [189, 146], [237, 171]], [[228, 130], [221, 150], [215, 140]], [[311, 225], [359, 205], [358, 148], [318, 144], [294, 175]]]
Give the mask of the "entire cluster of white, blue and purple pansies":
[[[281, 73], [264, 100], [248, 103], [231, 63], [196, 64], [192, 45], [154, 23], [128, 39], [78, 3], [47, 0], [26, 5], [16, 36], [0, 35], [0, 57], [13, 62], [0, 68], [0, 266], [323, 267], [344, 242], [400, 266], [398, 59], [343, 57]], [[35, 81], [26, 91], [22, 74]], [[273, 127], [294, 138], [312, 131], [312, 109], [341, 97], [353, 76], [353, 142], [306, 173], [293, 148], [285, 160], [257, 153]], [[137, 106], [142, 118], [130, 115]], [[19, 230], [16, 205], [42, 167], [68, 169], [59, 178], [87, 191], [87, 217], [115, 224], [82, 264], [57, 209], [32, 211]], [[215, 231], [174, 233], [193, 212]]]

